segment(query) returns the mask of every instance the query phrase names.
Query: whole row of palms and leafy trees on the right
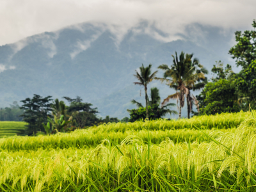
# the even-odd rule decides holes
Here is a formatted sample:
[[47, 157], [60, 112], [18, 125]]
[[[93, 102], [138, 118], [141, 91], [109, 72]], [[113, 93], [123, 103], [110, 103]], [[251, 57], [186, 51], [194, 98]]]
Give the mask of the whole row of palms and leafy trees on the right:
[[[187, 103], [188, 118], [190, 114], [193, 115], [214, 115], [216, 113], [233, 113], [238, 111], [248, 111], [256, 109], [256, 21], [253, 20], [253, 30], [246, 30], [243, 33], [236, 31], [236, 45], [231, 47], [229, 54], [233, 59], [236, 59], [236, 66], [241, 67], [242, 70], [235, 74], [232, 71], [231, 65], [226, 65], [221, 61], [216, 61], [211, 72], [214, 77], [208, 80], [205, 76], [208, 71], [199, 63], [198, 59], [193, 58], [193, 54], [185, 54], [181, 52], [180, 55], [173, 57], [173, 62], [170, 67], [163, 64], [158, 68], [164, 71], [163, 77], [156, 77], [156, 72], [151, 74], [150, 68], [140, 67], [140, 72], [136, 71], [136, 78], [140, 84], [144, 86], [146, 106], [143, 106], [132, 100], [132, 103], [137, 104], [139, 109], [129, 110], [133, 116], [140, 116], [141, 118], [158, 118], [157, 110], [161, 111], [170, 99], [177, 100], [177, 108], [179, 111], [179, 118], [181, 117], [181, 108], [184, 107], [185, 100]], [[166, 83], [167, 86], [175, 90], [175, 93], [166, 97], [158, 108], [152, 109], [148, 107], [147, 85], [152, 80], [159, 80]], [[156, 89], [156, 88], [155, 88]], [[191, 94], [191, 90], [200, 90], [199, 95]], [[170, 106], [173, 104], [169, 103]], [[193, 105], [196, 106], [196, 111], [193, 111]], [[148, 113], [150, 110], [150, 113]], [[170, 110], [170, 109], [169, 109]], [[175, 111], [168, 111], [173, 114]], [[154, 115], [155, 114], [155, 115]], [[165, 115], [166, 113], [163, 113]]]

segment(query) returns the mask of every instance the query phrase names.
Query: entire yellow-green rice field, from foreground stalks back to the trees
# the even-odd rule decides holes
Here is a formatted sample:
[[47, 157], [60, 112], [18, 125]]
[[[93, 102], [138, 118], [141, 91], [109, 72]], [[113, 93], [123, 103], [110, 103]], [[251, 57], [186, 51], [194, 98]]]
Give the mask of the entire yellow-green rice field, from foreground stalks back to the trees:
[[0, 139], [0, 148], [2, 191], [253, 191], [256, 186], [256, 120], [250, 113], [12, 136]]

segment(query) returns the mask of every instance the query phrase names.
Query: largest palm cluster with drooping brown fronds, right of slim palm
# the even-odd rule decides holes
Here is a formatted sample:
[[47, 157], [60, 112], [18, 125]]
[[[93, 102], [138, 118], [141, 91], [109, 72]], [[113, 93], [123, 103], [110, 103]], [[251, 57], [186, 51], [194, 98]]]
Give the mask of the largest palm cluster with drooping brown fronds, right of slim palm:
[[[169, 102], [170, 99], [177, 99], [177, 108], [179, 110], [180, 118], [181, 108], [184, 107], [184, 100], [186, 95], [189, 118], [189, 114], [193, 104], [193, 97], [191, 97], [190, 90], [196, 90], [204, 86], [205, 83], [200, 81], [204, 81], [204, 74], [207, 74], [207, 70], [199, 64], [199, 61], [197, 59], [193, 61], [191, 60], [193, 54], [186, 54], [185, 56], [184, 52], [181, 52], [178, 58], [177, 52], [175, 52], [175, 56], [172, 55], [172, 57], [173, 65], [171, 66], [171, 68], [169, 68], [166, 64], [160, 65], [158, 67], [165, 72], [163, 78], [156, 79], [162, 81], [162, 83], [166, 81], [167, 85], [170, 86], [170, 88], [174, 88], [176, 90], [176, 93], [174, 93], [173, 95], [169, 95], [168, 97], [166, 97], [166, 99], [164, 99], [162, 105]], [[170, 77], [170, 79], [168, 79], [168, 77]], [[196, 82], [198, 82], [198, 84], [195, 84]]]

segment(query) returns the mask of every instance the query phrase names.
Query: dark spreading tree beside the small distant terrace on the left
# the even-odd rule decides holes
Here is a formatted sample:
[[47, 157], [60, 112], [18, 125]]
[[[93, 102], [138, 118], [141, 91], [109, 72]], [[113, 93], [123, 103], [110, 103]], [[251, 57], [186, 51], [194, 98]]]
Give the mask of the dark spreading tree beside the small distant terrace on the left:
[[32, 99], [21, 100], [24, 104], [20, 109], [24, 110], [24, 122], [28, 122], [28, 134], [35, 134], [37, 131], [44, 130], [42, 123], [47, 122], [47, 115], [52, 111], [50, 101], [52, 96], [41, 97], [34, 94]]

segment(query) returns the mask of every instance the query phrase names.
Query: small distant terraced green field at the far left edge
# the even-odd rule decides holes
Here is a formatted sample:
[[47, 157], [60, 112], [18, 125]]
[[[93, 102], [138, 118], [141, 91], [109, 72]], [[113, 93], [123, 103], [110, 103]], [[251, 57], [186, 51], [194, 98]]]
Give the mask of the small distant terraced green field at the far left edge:
[[14, 136], [22, 133], [25, 127], [25, 122], [1, 122], [0, 121], [0, 138]]

